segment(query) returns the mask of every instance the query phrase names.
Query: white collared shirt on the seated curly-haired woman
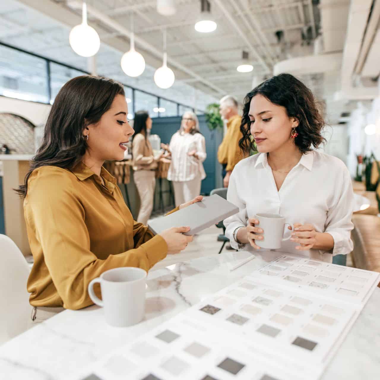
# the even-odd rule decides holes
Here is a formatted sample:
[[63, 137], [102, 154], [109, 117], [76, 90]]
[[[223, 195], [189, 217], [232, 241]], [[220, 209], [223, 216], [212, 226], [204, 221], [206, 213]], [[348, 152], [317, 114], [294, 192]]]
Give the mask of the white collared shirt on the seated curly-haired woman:
[[[279, 252], [331, 263], [332, 255], [345, 255], [353, 249], [350, 231], [353, 229], [351, 217], [355, 201], [351, 178], [347, 167], [336, 157], [317, 150], [302, 155], [279, 191], [266, 153], [245, 158], [231, 174], [227, 199], [239, 207], [238, 214], [224, 220], [226, 236], [235, 249], [234, 230], [247, 226], [248, 218], [254, 218], [258, 212], [281, 214], [291, 224], [310, 223], [315, 231], [328, 232], [334, 239], [332, 252], [299, 251], [295, 249], [299, 243], [292, 241], [283, 241]], [[285, 236], [290, 233], [286, 231]], [[244, 249], [254, 251], [249, 244]]]

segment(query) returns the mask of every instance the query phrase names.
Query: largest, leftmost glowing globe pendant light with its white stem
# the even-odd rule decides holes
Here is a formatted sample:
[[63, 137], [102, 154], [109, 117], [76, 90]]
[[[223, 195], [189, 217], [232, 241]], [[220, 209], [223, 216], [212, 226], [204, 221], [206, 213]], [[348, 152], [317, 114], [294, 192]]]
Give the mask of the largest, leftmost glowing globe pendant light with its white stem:
[[69, 36], [70, 46], [76, 54], [82, 57], [92, 57], [100, 47], [100, 38], [97, 31], [87, 24], [87, 5], [82, 5], [82, 24], [71, 29]]

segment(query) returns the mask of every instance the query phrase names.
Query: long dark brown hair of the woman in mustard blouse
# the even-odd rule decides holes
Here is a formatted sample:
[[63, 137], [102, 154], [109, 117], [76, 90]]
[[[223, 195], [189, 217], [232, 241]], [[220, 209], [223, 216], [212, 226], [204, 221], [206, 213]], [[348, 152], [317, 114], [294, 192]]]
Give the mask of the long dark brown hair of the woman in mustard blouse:
[[33, 157], [24, 184], [16, 192], [25, 198], [32, 171], [41, 166], [72, 169], [86, 153], [86, 125], [99, 122], [116, 95], [125, 95], [123, 85], [112, 79], [82, 75], [60, 89], [47, 117], [44, 136]]

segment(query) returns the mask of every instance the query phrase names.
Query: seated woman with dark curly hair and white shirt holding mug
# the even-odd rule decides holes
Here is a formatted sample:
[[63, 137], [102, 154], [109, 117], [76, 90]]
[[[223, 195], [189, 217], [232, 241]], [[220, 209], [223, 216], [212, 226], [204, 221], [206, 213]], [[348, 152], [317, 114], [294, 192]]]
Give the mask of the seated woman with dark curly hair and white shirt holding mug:
[[254, 216], [269, 212], [295, 228], [280, 252], [329, 263], [333, 255], [351, 252], [351, 178], [342, 161], [316, 150], [325, 141], [324, 125], [313, 94], [290, 74], [274, 76], [247, 94], [239, 146], [259, 153], [240, 161], [230, 177], [227, 199], [239, 213], [224, 224], [233, 248], [249, 243], [259, 250], [255, 240], [265, 239], [265, 231]]

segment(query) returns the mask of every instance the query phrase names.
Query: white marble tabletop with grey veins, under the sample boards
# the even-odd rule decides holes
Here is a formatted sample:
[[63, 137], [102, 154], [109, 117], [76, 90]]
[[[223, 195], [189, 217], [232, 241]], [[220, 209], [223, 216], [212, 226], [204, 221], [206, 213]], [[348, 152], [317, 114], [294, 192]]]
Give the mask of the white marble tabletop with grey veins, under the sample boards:
[[[149, 272], [145, 320], [129, 328], [106, 325], [103, 310], [97, 306], [66, 310], [0, 347], [0, 379], [71, 378], [111, 350], [281, 255], [265, 254], [256, 254], [255, 259], [232, 272], [234, 265], [251, 254], [226, 252]], [[379, 304], [380, 289], [376, 288], [323, 380], [379, 378]]]

